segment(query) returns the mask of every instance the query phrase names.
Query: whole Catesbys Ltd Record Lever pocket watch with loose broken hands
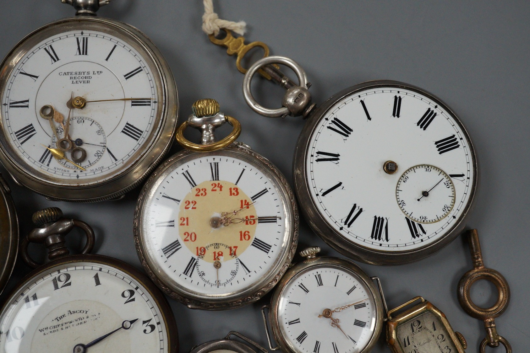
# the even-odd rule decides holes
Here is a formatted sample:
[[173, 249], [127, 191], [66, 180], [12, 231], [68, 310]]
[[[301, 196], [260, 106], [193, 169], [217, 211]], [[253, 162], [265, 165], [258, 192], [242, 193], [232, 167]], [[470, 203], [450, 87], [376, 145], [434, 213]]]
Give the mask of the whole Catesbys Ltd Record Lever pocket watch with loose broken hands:
[[117, 198], [171, 146], [174, 79], [142, 32], [95, 16], [110, 0], [63, 2], [77, 16], [29, 34], [1, 65], [0, 160], [52, 200]]

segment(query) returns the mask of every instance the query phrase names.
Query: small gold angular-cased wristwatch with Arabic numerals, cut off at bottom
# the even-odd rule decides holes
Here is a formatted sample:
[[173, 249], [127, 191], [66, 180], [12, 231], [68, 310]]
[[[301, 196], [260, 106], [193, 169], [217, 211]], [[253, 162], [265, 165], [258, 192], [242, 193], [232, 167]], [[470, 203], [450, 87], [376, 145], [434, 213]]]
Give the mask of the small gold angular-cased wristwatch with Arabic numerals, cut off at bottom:
[[[418, 300], [421, 303], [392, 318], [392, 313]], [[421, 296], [388, 311], [386, 341], [393, 353], [431, 352], [434, 350], [428, 349], [432, 347], [439, 348], [440, 352], [456, 349], [465, 353], [467, 348], [464, 337], [453, 330], [445, 314]]]

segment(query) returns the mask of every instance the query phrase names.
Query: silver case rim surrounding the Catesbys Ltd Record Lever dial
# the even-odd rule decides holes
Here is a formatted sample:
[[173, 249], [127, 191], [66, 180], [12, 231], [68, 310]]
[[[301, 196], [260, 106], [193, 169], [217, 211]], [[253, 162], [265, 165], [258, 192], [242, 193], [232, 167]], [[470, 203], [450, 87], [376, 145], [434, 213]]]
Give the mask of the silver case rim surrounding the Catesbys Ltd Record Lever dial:
[[[32, 191], [47, 196], [52, 200], [70, 202], [97, 202], [119, 197], [141, 183], [149, 173], [162, 161], [171, 147], [178, 114], [178, 94], [171, 69], [160, 50], [145, 34], [131, 25], [102, 17], [68, 17], [52, 23], [28, 34], [8, 53], [1, 67], [0, 82], [7, 83], [20, 59], [40, 41], [53, 35], [73, 30], [96, 30], [116, 35], [131, 47], [145, 54], [146, 65], [149, 66], [158, 96], [164, 99], [163, 107], [155, 113], [156, 129], [146, 139], [147, 148], [139, 149], [135, 156], [113, 176], [102, 182], [98, 177], [84, 179], [84, 184], [68, 183], [66, 179], [32, 168], [20, 156], [17, 156], [11, 143], [0, 144], [0, 161], [11, 174], [17, 184], [24, 185]], [[7, 87], [6, 85], [4, 85]], [[5, 88], [4, 88], [5, 89]], [[5, 92], [2, 89], [2, 94]], [[3, 113], [0, 113], [3, 114]], [[0, 119], [0, 135], [6, 135], [3, 119]]]

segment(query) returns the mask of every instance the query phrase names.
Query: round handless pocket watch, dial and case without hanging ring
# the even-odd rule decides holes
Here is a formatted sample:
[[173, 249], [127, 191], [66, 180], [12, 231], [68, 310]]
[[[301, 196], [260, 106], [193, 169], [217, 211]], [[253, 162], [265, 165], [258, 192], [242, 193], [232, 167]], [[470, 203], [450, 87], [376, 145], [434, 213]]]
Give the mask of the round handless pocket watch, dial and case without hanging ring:
[[458, 117], [395, 81], [347, 88], [312, 113], [294, 175], [311, 227], [341, 254], [374, 265], [416, 261], [455, 239], [478, 182]]

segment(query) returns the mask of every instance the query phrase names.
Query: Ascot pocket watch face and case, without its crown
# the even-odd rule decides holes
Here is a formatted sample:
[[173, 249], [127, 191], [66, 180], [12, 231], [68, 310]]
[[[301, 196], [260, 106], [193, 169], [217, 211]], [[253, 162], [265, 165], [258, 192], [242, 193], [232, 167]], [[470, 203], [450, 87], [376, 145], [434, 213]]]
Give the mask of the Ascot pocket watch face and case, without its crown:
[[47, 264], [8, 298], [0, 312], [0, 352], [175, 351], [176, 327], [161, 294], [121, 261], [69, 258]]

